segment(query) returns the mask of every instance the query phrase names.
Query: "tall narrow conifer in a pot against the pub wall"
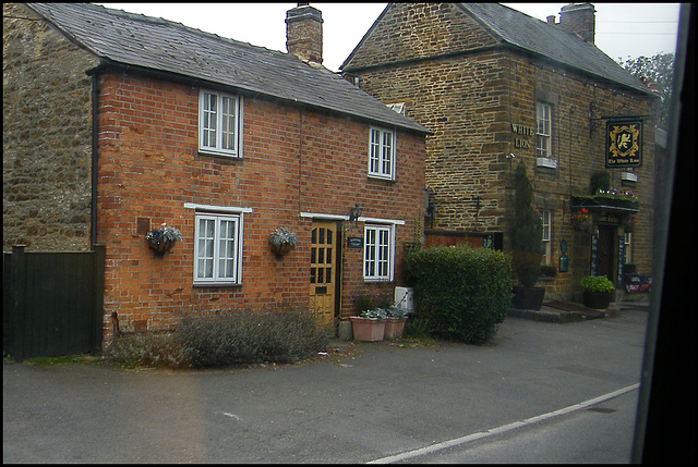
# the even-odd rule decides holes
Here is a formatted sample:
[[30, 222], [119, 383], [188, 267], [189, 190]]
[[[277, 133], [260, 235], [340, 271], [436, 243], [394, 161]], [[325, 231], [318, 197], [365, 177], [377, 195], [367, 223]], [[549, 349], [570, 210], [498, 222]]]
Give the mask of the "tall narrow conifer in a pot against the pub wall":
[[509, 234], [512, 265], [519, 281], [519, 285], [514, 286], [514, 306], [539, 310], [545, 296], [545, 288], [535, 286], [543, 258], [543, 220], [533, 206], [533, 186], [524, 162], [519, 162], [514, 172], [514, 221]]

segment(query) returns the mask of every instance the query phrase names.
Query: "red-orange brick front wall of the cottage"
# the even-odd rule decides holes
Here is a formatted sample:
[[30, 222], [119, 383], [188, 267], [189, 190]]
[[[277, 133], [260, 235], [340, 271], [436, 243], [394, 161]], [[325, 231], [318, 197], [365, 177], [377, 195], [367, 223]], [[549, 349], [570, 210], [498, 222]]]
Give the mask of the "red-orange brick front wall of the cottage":
[[[167, 327], [180, 311], [304, 304], [309, 295], [312, 220], [299, 212], [402, 219], [401, 245], [412, 241], [423, 209], [423, 137], [397, 136], [396, 182], [368, 179], [369, 126], [267, 100], [244, 98], [242, 160], [197, 153], [198, 89], [109, 73], [99, 83], [98, 242], [107, 245], [105, 311]], [[252, 208], [244, 214], [242, 285], [192, 287], [194, 212], [184, 202]], [[183, 237], [156, 258], [136, 232], [137, 218]], [[298, 247], [282, 260], [268, 234], [293, 230]], [[345, 224], [349, 234], [363, 228]], [[363, 287], [361, 249], [344, 250], [342, 312]], [[399, 275], [397, 278], [399, 282]], [[380, 287], [381, 285], [375, 285]]]

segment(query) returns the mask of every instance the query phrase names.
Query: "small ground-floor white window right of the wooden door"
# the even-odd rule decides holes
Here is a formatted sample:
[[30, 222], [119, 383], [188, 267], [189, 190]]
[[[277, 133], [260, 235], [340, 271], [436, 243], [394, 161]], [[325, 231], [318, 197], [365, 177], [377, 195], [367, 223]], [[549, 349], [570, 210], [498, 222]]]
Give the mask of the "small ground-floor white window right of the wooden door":
[[363, 280], [392, 281], [395, 257], [395, 226], [365, 225], [363, 237]]

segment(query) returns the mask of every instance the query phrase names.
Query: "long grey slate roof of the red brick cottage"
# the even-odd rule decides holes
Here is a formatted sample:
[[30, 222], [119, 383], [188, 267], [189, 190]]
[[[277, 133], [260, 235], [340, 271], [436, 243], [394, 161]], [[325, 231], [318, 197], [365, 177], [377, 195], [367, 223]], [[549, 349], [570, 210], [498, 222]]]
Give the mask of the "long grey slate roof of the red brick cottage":
[[[101, 59], [173, 73], [419, 133], [401, 115], [336, 73], [290, 53], [161, 19], [89, 3], [26, 3], [79, 47]], [[285, 24], [279, 24], [285, 27]]]

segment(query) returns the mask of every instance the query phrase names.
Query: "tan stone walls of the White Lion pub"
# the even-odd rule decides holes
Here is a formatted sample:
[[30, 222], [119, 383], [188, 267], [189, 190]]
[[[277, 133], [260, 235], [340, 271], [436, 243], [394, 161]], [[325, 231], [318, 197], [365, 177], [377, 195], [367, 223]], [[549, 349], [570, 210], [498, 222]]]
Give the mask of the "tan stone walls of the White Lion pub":
[[[651, 271], [657, 99], [510, 50], [472, 50], [491, 44], [453, 4], [396, 3], [346, 67], [360, 76], [363, 90], [384, 102], [406, 102], [408, 116], [434, 133], [426, 139], [425, 177], [436, 204], [434, 228], [506, 233], [512, 174], [522, 160], [537, 207], [553, 211], [555, 265], [559, 242], [569, 246], [570, 272], [545, 281], [546, 296], [578, 298], [578, 282], [589, 273], [590, 237], [570, 229], [569, 195], [587, 194], [591, 173], [604, 170], [605, 126], [598, 119], [647, 115], [643, 163], [631, 170], [637, 184], [623, 186], [621, 170], [610, 172], [613, 186], [631, 189], [640, 199], [633, 262], [639, 271]], [[458, 50], [471, 51], [454, 56]], [[534, 168], [534, 135], [512, 130], [513, 123], [535, 128], [537, 100], [553, 105], [556, 170]], [[516, 159], [506, 158], [510, 152]], [[477, 224], [473, 196], [482, 198]]]

